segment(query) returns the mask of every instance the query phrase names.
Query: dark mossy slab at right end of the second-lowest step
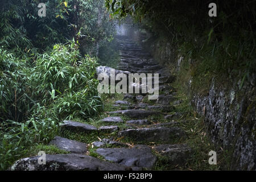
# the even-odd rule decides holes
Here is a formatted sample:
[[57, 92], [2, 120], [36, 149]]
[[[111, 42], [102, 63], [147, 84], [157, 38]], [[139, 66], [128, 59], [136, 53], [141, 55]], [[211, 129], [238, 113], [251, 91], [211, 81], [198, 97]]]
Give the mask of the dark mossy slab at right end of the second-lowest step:
[[183, 165], [191, 156], [191, 147], [187, 144], [161, 144], [155, 146], [154, 150], [162, 156], [168, 158], [168, 164], [176, 166]]

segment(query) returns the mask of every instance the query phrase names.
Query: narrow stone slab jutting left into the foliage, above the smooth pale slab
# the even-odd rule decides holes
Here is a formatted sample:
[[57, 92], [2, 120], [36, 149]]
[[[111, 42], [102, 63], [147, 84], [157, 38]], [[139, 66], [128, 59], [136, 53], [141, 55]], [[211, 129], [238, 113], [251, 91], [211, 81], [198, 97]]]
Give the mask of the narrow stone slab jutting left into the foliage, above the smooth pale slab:
[[80, 132], [85, 132], [85, 133], [90, 133], [90, 132], [98, 130], [96, 127], [94, 127], [92, 125], [75, 122], [75, 121], [64, 121], [64, 124], [61, 127], [63, 129], [67, 129], [70, 131], [80, 131]]

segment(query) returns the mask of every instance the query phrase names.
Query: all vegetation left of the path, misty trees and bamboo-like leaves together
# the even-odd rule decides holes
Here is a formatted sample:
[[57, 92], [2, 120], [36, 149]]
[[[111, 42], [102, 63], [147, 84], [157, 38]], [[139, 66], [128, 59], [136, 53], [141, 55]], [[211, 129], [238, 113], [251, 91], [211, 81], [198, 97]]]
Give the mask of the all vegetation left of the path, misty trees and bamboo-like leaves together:
[[0, 11], [0, 168], [101, 109], [98, 50], [113, 38], [104, 1], [4, 0]]

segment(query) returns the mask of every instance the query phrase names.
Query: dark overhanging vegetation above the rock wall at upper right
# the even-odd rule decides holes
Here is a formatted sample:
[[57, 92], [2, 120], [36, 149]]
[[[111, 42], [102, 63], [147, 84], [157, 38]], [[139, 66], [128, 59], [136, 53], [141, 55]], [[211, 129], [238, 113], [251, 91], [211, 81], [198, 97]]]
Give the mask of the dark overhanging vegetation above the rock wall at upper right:
[[223, 76], [221, 80], [240, 77], [242, 88], [253, 77], [256, 1], [213, 1], [217, 17], [208, 15], [210, 2], [203, 0], [105, 2], [113, 17], [131, 15], [142, 27], [171, 40], [176, 48], [174, 60], [182, 55], [185, 69], [199, 80], [199, 85], [207, 85], [216, 76]]

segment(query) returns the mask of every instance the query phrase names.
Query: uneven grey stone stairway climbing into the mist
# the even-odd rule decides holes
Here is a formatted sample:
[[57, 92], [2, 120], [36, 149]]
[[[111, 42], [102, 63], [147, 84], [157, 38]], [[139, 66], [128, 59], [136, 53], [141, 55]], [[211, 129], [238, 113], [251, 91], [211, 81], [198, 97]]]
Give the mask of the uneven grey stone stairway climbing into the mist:
[[[160, 156], [166, 158], [173, 166], [182, 166], [190, 158], [191, 148], [182, 143], [187, 134], [177, 126], [177, 122], [151, 122], [151, 118], [172, 120], [180, 117], [179, 114], [168, 115], [168, 112], [174, 110], [174, 105], [170, 104], [179, 104], [171, 92], [173, 88], [168, 85], [173, 81], [170, 72], [133, 40], [121, 37], [118, 44], [121, 61], [118, 65], [119, 70], [115, 72], [159, 73], [161, 94], [158, 100], [146, 102], [147, 94], [124, 94], [123, 100], [114, 102], [117, 110], [109, 112], [109, 117], [101, 119], [104, 126], [97, 128], [80, 122], [64, 121], [61, 130], [88, 134], [97, 131], [118, 131], [118, 138], [131, 139], [138, 144], [134, 146], [108, 138], [95, 141], [93, 146], [97, 148], [96, 153], [105, 159], [101, 160], [86, 155], [88, 149], [85, 143], [55, 137], [49, 144], [71, 154], [46, 155], [46, 165], [38, 164], [39, 156], [20, 159], [11, 170], [142, 170], [153, 169]], [[97, 68], [98, 74], [109, 71], [109, 67]], [[127, 109], [119, 110], [121, 107]], [[125, 121], [122, 116], [129, 119]], [[121, 130], [117, 126], [120, 123], [126, 123], [127, 128]], [[111, 147], [108, 147], [109, 145]]]

